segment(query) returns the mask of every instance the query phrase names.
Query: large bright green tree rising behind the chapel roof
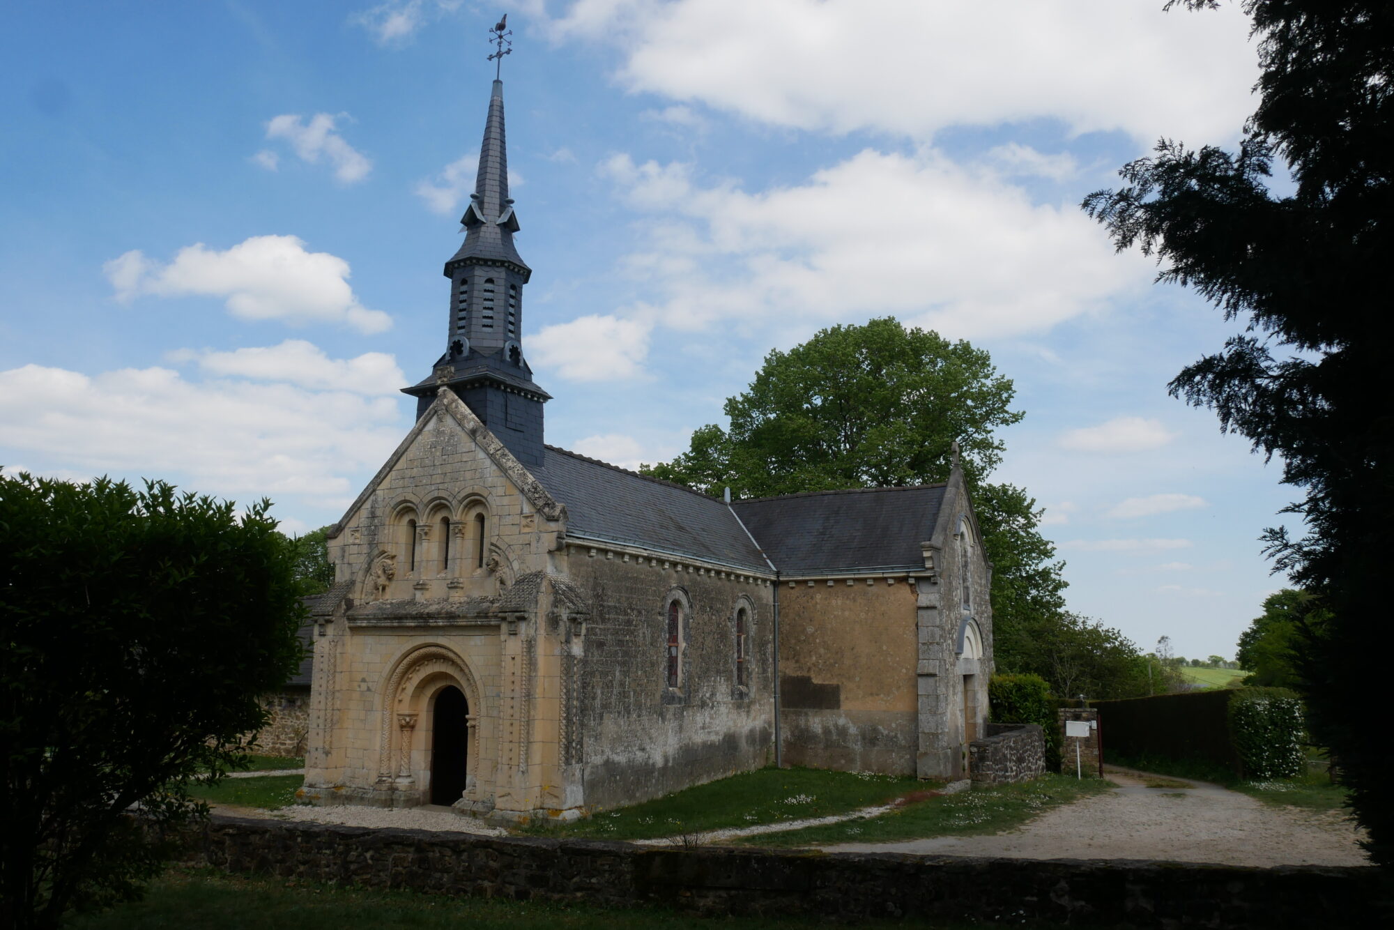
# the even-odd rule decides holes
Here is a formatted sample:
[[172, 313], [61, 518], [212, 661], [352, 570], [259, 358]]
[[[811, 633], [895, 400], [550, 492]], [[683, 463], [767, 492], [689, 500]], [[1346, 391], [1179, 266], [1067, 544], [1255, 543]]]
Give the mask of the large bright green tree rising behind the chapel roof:
[[993, 562], [998, 668], [1015, 671], [1027, 627], [1064, 609], [1062, 563], [1023, 491], [990, 484], [1002, 460], [995, 431], [1022, 418], [1015, 388], [966, 342], [906, 329], [895, 318], [832, 326], [771, 351], [750, 389], [726, 400], [729, 429], [707, 425], [672, 462], [643, 466], [710, 495], [768, 496], [944, 481], [952, 443]]

